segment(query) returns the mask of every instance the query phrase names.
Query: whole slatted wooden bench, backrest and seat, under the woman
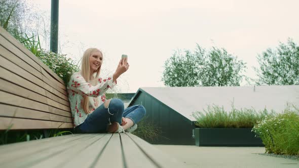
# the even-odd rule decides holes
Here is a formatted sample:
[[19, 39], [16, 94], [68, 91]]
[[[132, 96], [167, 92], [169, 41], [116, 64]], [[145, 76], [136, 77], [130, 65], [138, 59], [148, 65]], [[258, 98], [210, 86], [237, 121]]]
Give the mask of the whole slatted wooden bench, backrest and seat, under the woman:
[[[63, 80], [0, 27], [0, 130], [72, 129]], [[183, 167], [129, 133], [0, 146], [0, 167]]]

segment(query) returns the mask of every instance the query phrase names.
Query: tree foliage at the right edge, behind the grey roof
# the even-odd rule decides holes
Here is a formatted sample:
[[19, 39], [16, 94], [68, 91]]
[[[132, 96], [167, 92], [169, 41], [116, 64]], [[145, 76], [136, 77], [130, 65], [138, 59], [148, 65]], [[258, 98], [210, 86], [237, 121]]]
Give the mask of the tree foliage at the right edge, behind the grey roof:
[[257, 56], [257, 85], [299, 85], [299, 46], [292, 39]]

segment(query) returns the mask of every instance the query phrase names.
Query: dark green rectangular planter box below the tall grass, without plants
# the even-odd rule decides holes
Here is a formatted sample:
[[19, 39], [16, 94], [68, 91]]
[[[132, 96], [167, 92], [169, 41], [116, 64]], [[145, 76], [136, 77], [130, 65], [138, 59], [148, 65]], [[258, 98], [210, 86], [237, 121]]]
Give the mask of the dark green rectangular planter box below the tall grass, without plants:
[[196, 128], [196, 146], [264, 146], [251, 129]]

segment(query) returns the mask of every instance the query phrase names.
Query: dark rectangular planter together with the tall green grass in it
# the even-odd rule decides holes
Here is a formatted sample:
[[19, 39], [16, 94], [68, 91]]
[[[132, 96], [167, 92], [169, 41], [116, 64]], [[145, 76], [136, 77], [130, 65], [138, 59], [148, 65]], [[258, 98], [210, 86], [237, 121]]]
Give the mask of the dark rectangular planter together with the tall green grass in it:
[[227, 112], [223, 107], [208, 106], [207, 110], [197, 111], [193, 116], [195, 141], [197, 146], [264, 146], [260, 138], [251, 131], [254, 125], [275, 112], [267, 109], [256, 112], [254, 109], [236, 109]]

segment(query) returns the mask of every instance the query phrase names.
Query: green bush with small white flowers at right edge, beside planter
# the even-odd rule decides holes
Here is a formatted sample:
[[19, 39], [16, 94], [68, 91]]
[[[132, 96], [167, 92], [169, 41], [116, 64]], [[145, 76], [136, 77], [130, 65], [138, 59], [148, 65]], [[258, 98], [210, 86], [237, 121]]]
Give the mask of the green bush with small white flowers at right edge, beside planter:
[[267, 153], [299, 155], [299, 109], [286, 108], [284, 113], [268, 116], [252, 131], [261, 138]]

